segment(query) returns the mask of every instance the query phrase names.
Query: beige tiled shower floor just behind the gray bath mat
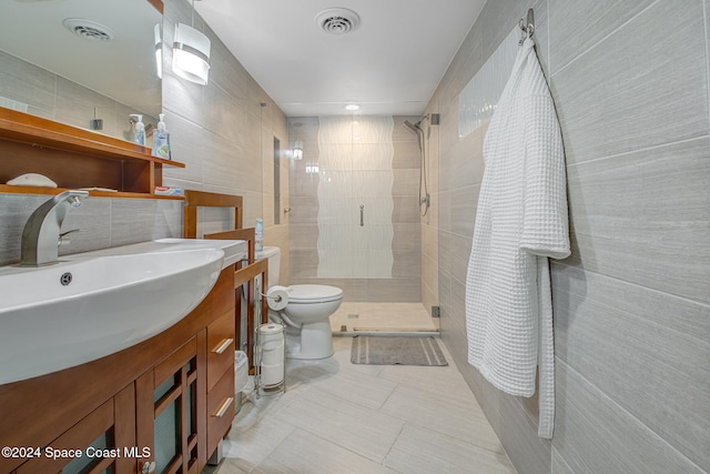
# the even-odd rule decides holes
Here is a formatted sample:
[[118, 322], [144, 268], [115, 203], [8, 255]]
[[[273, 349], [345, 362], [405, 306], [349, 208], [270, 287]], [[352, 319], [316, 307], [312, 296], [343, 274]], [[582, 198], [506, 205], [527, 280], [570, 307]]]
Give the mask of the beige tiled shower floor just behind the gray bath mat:
[[342, 332], [419, 332], [438, 331], [438, 319], [427, 313], [422, 303], [354, 303], [343, 302], [331, 316], [333, 333]]

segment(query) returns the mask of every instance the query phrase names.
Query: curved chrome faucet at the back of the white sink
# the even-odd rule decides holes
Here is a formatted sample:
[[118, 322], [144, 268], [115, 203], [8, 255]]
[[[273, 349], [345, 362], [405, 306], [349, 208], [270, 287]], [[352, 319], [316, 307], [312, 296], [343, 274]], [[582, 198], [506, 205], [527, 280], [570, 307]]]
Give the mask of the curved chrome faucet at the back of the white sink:
[[37, 208], [24, 224], [20, 266], [51, 265], [59, 262], [59, 230], [69, 208], [79, 208], [87, 191], [64, 191]]

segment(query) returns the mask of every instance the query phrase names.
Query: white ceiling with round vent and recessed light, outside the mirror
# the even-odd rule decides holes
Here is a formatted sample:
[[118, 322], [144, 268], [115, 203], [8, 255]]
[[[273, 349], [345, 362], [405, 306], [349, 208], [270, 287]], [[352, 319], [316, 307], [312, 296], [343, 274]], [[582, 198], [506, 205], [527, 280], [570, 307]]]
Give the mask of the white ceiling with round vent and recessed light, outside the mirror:
[[[418, 115], [485, 0], [203, 0], [195, 9], [288, 117]], [[322, 10], [359, 26], [328, 34]]]

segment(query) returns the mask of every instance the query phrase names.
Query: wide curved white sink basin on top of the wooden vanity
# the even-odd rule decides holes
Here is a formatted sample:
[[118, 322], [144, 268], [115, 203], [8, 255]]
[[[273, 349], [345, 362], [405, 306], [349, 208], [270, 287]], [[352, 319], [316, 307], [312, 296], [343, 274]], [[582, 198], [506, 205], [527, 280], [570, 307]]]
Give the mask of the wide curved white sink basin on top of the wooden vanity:
[[222, 269], [242, 256], [242, 244], [166, 239], [68, 255], [51, 266], [0, 268], [0, 384], [164, 331], [207, 295]]

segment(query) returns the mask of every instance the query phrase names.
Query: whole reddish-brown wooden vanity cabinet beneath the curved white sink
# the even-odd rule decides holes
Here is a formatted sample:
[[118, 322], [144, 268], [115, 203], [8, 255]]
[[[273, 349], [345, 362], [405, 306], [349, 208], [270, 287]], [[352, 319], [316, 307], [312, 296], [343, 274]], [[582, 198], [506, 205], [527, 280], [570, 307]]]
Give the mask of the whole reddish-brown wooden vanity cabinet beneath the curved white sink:
[[[119, 448], [121, 456], [91, 460], [81, 472], [202, 471], [234, 416], [234, 299], [230, 265], [197, 307], [150, 340], [0, 385], [0, 446], [42, 453], [0, 457], [0, 474], [62, 472], [72, 460], [48, 460], [44, 450], [85, 450], [93, 442]], [[153, 462], [161, 471], [150, 471]]]

